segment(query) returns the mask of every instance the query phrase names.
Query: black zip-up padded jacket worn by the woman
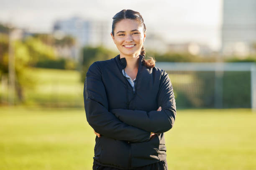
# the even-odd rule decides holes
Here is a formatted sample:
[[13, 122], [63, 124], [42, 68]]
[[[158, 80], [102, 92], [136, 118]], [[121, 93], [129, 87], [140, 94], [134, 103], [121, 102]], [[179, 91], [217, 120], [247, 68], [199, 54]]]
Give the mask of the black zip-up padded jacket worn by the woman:
[[[120, 55], [96, 61], [87, 71], [84, 108], [88, 123], [101, 134], [93, 157], [100, 165], [126, 170], [166, 159], [164, 132], [176, 117], [172, 83], [164, 70], [144, 66], [143, 58], [135, 92], [122, 74], [126, 59]], [[150, 132], [157, 134], [149, 139]]]

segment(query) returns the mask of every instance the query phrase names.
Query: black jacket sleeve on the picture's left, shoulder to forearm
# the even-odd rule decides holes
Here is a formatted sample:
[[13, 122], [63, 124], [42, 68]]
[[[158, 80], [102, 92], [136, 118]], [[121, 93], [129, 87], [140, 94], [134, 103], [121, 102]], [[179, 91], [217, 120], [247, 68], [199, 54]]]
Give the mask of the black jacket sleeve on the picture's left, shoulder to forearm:
[[84, 81], [84, 109], [87, 122], [101, 135], [130, 142], [146, 142], [150, 138], [150, 132], [128, 125], [108, 112], [107, 95], [97, 61], [89, 67]]

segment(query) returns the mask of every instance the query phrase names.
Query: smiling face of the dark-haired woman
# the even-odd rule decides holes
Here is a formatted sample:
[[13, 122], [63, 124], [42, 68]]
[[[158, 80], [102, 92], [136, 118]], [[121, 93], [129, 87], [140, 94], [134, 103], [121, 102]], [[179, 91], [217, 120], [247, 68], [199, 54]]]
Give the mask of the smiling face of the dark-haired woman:
[[112, 39], [120, 55], [138, 56], [146, 38], [143, 26], [137, 20], [123, 19], [116, 23]]

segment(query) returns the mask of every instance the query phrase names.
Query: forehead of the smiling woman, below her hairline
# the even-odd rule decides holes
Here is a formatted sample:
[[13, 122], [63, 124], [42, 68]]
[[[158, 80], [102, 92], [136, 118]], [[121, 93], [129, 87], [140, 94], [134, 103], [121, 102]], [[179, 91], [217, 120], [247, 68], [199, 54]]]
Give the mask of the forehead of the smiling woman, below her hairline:
[[137, 20], [123, 19], [115, 24], [115, 32], [118, 31], [131, 31], [139, 30], [142, 31], [142, 25]]

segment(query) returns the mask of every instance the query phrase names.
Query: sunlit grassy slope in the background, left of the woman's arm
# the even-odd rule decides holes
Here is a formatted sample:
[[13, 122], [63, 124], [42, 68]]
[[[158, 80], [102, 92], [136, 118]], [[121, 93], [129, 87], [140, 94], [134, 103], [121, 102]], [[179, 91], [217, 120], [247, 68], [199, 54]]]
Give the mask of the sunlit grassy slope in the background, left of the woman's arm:
[[[23, 89], [25, 105], [44, 107], [82, 107], [84, 105], [84, 84], [80, 81], [79, 71], [30, 68], [25, 72], [31, 79], [29, 83], [23, 82], [26, 83]], [[2, 100], [7, 101], [7, 90], [0, 89], [0, 96]]]

